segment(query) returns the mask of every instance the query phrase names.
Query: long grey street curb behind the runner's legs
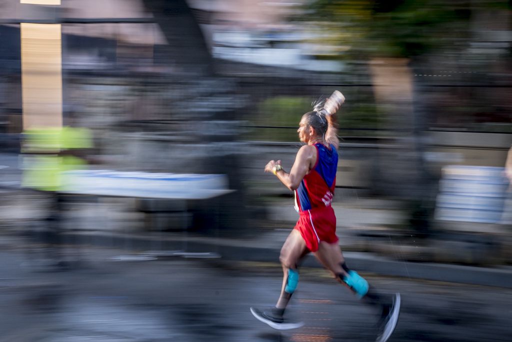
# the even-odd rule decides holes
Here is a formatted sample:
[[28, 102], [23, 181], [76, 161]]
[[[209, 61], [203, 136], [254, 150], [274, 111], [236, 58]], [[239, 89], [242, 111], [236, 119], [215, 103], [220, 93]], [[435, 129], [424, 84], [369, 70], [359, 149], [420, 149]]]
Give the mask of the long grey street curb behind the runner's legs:
[[[279, 262], [279, 248], [258, 247], [240, 240], [215, 240], [213, 238], [173, 237], [157, 239], [130, 234], [106, 234], [90, 232], [65, 233], [65, 243], [119, 248], [132, 252], [152, 251], [153, 255], [166, 251], [189, 253], [211, 252], [224, 260]], [[359, 272], [376, 273], [412, 279], [446, 281], [481, 286], [512, 288], [512, 268], [484, 268], [436, 263], [413, 263], [391, 259], [367, 252], [344, 252], [347, 264]], [[306, 267], [322, 267], [311, 254], [302, 264]]]

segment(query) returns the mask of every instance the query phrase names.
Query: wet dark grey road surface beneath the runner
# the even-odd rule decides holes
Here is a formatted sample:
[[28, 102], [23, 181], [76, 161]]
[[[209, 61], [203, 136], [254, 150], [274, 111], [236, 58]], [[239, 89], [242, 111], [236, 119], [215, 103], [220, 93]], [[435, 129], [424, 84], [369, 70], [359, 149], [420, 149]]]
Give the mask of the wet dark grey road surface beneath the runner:
[[[80, 267], [53, 272], [23, 251], [0, 253], [0, 341], [372, 341], [376, 313], [329, 275], [301, 269], [279, 332], [252, 317], [281, 287], [272, 263], [164, 258], [116, 261], [119, 250], [82, 250]], [[37, 262], [36, 262], [37, 261]], [[364, 274], [402, 294], [390, 341], [508, 341], [512, 290]]]

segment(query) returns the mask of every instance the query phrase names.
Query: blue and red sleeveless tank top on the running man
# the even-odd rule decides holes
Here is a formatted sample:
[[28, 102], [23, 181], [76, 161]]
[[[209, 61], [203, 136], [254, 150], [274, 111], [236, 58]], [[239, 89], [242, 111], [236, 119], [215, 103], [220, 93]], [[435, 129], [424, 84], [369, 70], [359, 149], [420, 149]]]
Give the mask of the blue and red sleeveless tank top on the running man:
[[329, 207], [334, 196], [338, 152], [332, 144], [329, 147], [320, 143], [313, 146], [316, 147], [315, 166], [295, 190], [295, 210], [298, 212]]

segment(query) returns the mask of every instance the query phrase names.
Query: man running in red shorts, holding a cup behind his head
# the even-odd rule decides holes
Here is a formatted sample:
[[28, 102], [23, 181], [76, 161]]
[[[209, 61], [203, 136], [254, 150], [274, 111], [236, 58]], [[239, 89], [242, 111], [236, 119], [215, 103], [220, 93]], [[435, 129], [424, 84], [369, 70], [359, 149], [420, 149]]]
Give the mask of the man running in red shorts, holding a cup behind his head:
[[339, 283], [351, 289], [365, 303], [381, 310], [381, 334], [377, 341], [383, 342], [395, 329], [400, 295], [397, 293], [387, 298], [376, 293], [363, 277], [347, 267], [338, 244], [336, 216], [331, 207], [339, 146], [335, 113], [344, 100], [345, 97], [335, 91], [325, 103], [317, 103], [313, 111], [302, 116], [297, 132], [306, 145], [298, 150], [289, 173], [281, 166], [281, 160], [270, 160], [265, 166], [265, 172], [272, 172], [295, 192], [295, 209], [300, 217], [281, 249], [283, 286], [275, 307], [268, 311], [251, 308], [251, 312], [274, 329], [301, 327], [302, 322], [287, 322], [284, 313], [298, 284], [298, 265], [304, 256], [313, 253]]

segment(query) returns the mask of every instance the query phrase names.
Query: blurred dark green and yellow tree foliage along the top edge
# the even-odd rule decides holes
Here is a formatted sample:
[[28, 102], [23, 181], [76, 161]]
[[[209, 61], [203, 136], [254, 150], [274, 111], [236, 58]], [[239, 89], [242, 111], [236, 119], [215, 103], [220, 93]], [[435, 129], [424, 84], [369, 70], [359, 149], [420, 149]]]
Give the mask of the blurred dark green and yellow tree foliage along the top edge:
[[350, 52], [340, 58], [412, 57], [451, 44], [470, 13], [464, 2], [441, 0], [316, 0], [298, 19], [343, 33], [337, 44]]

